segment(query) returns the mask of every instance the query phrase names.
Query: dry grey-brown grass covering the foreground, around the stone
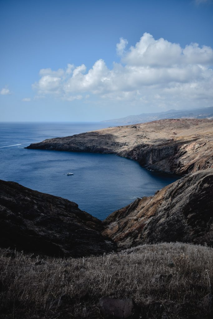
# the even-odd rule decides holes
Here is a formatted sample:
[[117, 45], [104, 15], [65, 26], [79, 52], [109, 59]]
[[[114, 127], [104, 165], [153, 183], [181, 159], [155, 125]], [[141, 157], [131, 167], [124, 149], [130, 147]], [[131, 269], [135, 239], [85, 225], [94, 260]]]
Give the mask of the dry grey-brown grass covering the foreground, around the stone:
[[136, 318], [211, 318], [202, 303], [213, 286], [209, 247], [161, 243], [78, 259], [0, 254], [1, 318], [102, 318], [102, 296], [132, 297]]

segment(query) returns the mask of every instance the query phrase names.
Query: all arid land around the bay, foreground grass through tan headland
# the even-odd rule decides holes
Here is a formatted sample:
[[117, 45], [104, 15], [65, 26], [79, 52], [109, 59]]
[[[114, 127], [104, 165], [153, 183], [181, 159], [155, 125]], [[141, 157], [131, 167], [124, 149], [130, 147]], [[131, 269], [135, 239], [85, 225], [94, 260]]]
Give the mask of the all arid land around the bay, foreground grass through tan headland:
[[115, 153], [182, 177], [103, 222], [1, 181], [1, 318], [212, 318], [212, 120], [118, 126], [27, 148]]

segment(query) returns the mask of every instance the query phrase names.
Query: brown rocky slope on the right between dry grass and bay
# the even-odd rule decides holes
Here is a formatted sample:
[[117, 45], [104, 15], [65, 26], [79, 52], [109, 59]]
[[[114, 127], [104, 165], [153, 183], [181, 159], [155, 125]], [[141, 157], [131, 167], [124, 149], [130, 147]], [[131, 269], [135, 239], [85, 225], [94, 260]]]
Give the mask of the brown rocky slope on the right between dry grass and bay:
[[120, 249], [182, 241], [213, 245], [213, 168], [186, 175], [104, 220]]

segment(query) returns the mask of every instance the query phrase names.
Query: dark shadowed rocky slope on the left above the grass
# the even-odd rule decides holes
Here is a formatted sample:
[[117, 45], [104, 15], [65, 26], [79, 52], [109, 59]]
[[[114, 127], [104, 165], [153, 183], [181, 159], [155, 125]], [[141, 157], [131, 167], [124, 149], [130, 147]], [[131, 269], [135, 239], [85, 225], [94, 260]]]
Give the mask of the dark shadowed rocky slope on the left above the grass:
[[0, 246], [56, 257], [115, 249], [102, 222], [61, 197], [0, 180]]

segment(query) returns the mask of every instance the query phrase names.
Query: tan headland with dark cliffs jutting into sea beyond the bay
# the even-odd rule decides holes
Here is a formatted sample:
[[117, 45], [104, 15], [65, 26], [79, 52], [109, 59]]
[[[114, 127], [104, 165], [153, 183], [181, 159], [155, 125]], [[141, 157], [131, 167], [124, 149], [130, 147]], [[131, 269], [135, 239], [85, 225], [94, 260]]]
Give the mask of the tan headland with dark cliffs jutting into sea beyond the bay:
[[27, 148], [115, 153], [182, 175], [213, 166], [213, 120], [158, 120], [47, 139]]

